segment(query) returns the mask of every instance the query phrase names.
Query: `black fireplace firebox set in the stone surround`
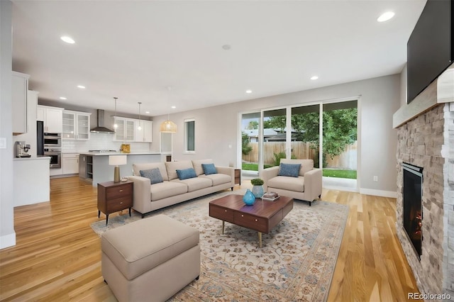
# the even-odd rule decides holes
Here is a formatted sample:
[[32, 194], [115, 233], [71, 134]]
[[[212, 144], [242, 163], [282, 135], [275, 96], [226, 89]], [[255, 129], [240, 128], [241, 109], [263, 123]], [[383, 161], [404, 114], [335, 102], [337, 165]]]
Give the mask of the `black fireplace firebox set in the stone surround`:
[[404, 229], [414, 247], [416, 255], [421, 260], [423, 240], [423, 168], [414, 166], [413, 164], [403, 163], [402, 169], [404, 174]]

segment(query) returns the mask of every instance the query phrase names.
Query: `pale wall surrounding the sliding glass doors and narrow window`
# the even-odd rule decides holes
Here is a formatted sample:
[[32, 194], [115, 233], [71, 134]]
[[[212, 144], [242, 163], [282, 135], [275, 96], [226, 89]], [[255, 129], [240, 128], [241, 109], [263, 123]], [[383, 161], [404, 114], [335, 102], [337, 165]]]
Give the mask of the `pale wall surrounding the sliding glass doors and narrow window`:
[[[392, 129], [392, 115], [400, 106], [400, 89], [400, 74], [394, 74], [194, 111], [171, 113], [170, 120], [178, 126], [178, 132], [173, 135], [173, 157], [176, 160], [212, 158], [216, 164], [236, 164], [239, 112], [360, 96], [358, 108], [360, 191], [364, 194], [395, 196], [397, 140], [396, 131]], [[194, 155], [183, 152], [185, 118], [196, 120]], [[154, 138], [160, 137], [158, 125], [166, 119], [167, 115], [153, 118]], [[153, 141], [152, 148], [157, 149], [158, 146], [159, 142]], [[373, 181], [373, 176], [377, 176], [379, 181]]]

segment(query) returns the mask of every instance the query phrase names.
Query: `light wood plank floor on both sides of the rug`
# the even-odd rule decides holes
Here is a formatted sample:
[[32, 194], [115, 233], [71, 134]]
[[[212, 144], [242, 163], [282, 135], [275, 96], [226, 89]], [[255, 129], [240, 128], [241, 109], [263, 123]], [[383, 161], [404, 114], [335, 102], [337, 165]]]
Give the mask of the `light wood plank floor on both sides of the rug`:
[[[50, 186], [50, 202], [14, 209], [17, 244], [0, 250], [0, 300], [116, 301], [89, 226], [105, 219], [96, 188], [77, 177]], [[407, 301], [417, 287], [397, 239], [395, 199], [334, 190], [321, 199], [350, 207], [328, 301]]]

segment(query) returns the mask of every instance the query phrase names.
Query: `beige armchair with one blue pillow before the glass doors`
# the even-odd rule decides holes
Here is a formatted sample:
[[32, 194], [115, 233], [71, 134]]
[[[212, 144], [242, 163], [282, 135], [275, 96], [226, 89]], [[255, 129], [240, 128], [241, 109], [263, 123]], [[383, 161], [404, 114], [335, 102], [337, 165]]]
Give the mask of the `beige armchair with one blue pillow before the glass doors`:
[[297, 177], [279, 176], [279, 167], [263, 169], [260, 178], [265, 181], [265, 192], [276, 192], [279, 196], [289, 196], [304, 201], [312, 201], [321, 197], [321, 169], [314, 169], [314, 160], [287, 160], [282, 164], [301, 164]]

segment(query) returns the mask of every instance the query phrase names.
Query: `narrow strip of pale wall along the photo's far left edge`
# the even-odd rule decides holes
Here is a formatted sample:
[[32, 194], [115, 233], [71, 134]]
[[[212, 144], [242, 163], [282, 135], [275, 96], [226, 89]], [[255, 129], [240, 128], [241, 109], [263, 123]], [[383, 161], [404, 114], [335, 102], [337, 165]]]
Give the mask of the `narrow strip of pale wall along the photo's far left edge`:
[[16, 245], [13, 211], [13, 110], [11, 99], [11, 1], [0, 1], [0, 249]]

